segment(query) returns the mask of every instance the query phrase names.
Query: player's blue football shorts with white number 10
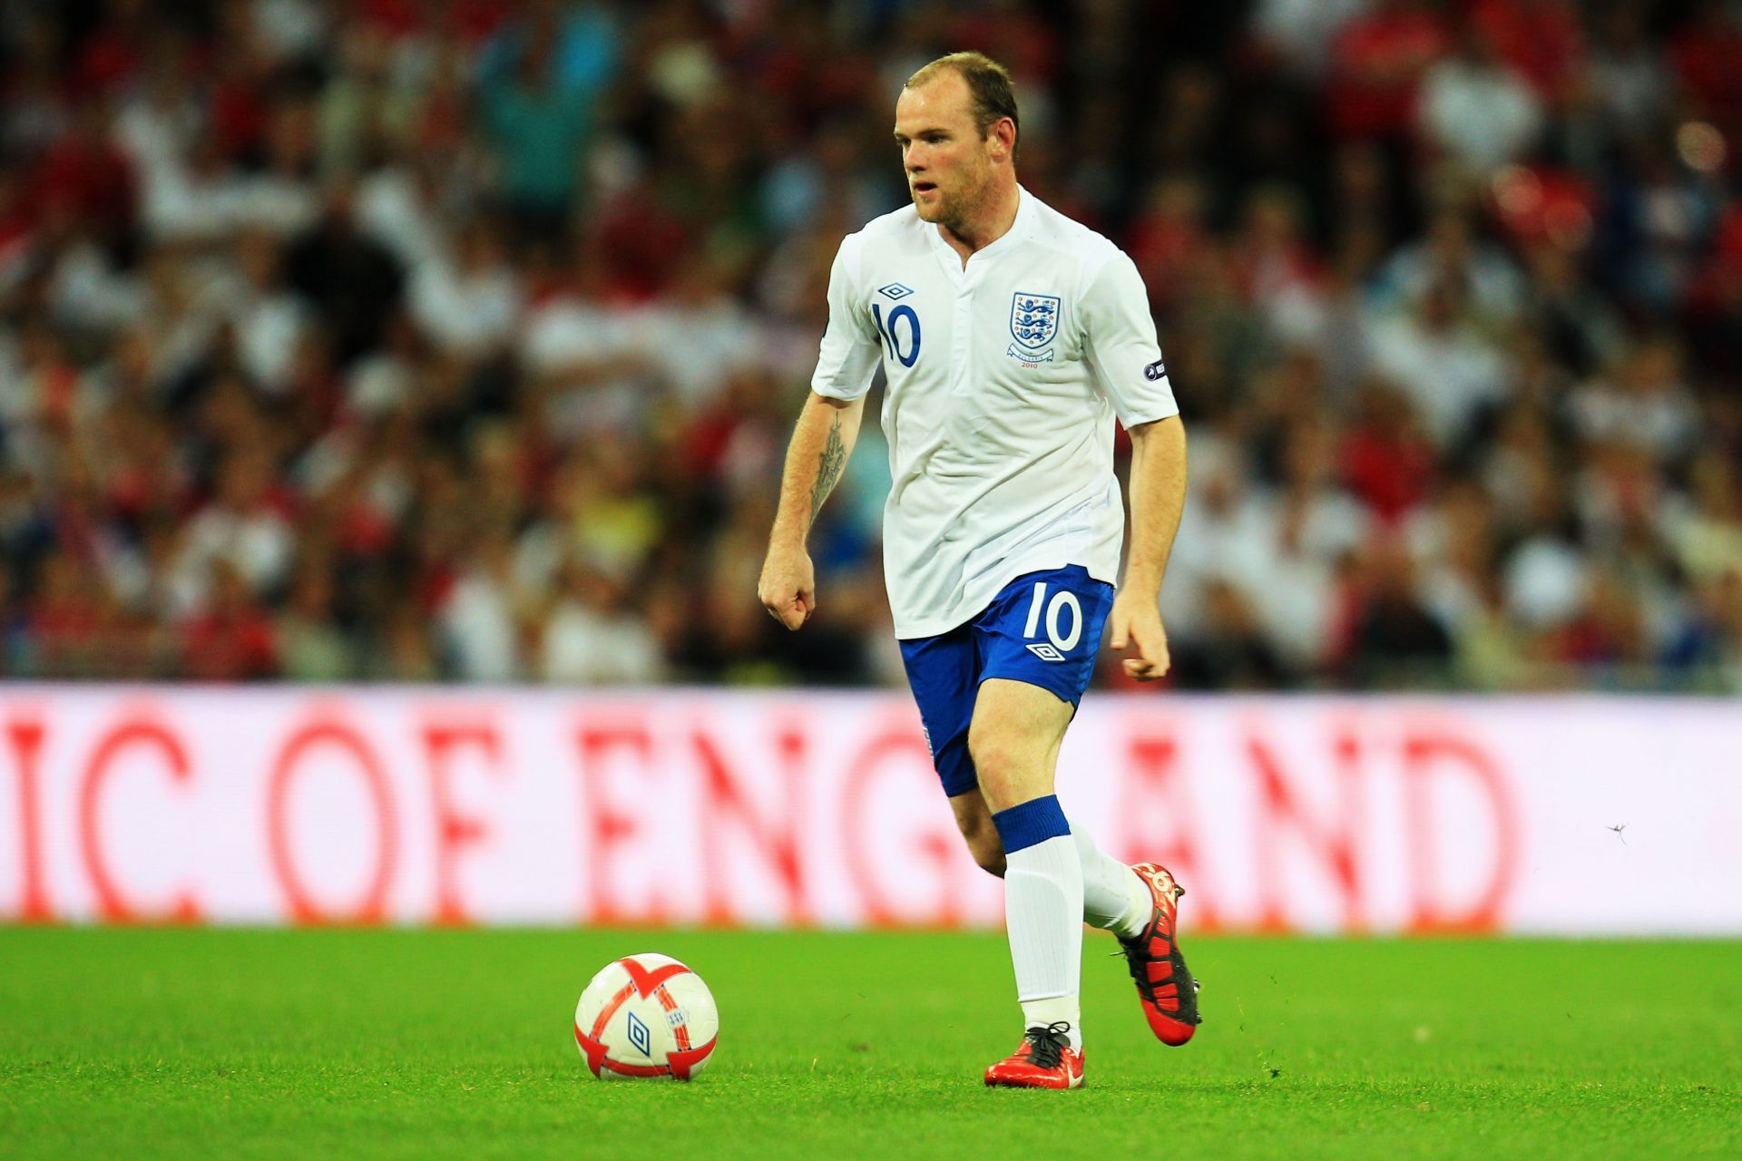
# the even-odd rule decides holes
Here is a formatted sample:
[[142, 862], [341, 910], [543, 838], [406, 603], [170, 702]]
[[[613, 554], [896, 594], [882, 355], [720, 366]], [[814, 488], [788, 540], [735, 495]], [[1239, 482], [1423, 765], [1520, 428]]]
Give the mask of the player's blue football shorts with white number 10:
[[955, 797], [979, 785], [969, 757], [969, 721], [988, 677], [1026, 681], [1073, 707], [1094, 675], [1113, 587], [1078, 564], [1026, 573], [974, 620], [935, 637], [901, 642], [932, 766]]

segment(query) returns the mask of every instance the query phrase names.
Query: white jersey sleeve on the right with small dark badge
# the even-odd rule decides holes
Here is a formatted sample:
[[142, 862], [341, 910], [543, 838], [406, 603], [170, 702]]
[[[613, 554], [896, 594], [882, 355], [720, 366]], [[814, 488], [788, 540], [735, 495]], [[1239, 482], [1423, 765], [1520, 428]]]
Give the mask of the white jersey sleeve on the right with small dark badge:
[[1124, 252], [1108, 259], [1084, 291], [1078, 317], [1089, 366], [1120, 423], [1132, 428], [1179, 414], [1136, 263]]

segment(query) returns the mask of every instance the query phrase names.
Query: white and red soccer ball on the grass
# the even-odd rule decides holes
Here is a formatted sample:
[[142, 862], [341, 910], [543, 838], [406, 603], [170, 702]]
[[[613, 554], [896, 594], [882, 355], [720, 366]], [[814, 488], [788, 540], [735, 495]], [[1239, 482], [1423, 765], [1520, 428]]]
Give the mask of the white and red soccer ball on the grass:
[[693, 1079], [719, 1039], [719, 1010], [702, 976], [645, 952], [604, 964], [575, 1004], [575, 1043], [601, 1081]]

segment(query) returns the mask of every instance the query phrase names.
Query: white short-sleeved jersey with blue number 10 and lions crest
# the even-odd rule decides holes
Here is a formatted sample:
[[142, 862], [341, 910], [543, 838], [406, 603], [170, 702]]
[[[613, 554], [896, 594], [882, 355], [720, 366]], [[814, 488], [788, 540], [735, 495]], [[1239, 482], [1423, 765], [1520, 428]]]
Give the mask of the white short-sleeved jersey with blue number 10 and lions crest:
[[812, 390], [859, 399], [881, 353], [894, 486], [883, 571], [897, 637], [979, 614], [1023, 573], [1117, 583], [1113, 416], [1179, 413], [1131, 258], [1026, 190], [962, 258], [913, 205], [848, 235]]

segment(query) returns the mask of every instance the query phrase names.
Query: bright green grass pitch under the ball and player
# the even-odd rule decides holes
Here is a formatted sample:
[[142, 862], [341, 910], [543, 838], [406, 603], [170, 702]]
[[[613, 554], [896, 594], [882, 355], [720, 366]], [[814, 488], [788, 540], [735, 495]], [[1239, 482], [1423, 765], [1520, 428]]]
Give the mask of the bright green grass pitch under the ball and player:
[[[1047, 1093], [981, 1086], [996, 935], [0, 928], [0, 1156], [1742, 1156], [1742, 943], [1188, 940], [1179, 1050], [1111, 947]], [[719, 999], [693, 1084], [575, 1051], [639, 950]]]

